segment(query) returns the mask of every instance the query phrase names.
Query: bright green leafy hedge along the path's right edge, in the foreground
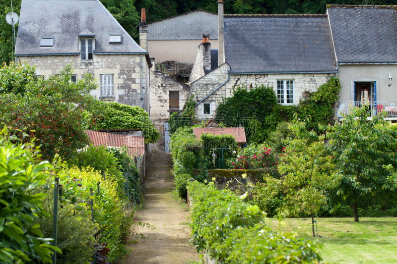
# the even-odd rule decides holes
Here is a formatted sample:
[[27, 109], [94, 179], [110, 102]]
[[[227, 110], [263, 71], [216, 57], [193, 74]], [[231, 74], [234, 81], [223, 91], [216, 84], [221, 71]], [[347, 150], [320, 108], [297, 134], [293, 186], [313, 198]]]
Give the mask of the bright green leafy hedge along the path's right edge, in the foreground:
[[274, 234], [258, 206], [212, 183], [188, 185], [192, 201], [192, 241], [197, 251], [232, 263], [319, 263], [317, 243], [295, 234]]

